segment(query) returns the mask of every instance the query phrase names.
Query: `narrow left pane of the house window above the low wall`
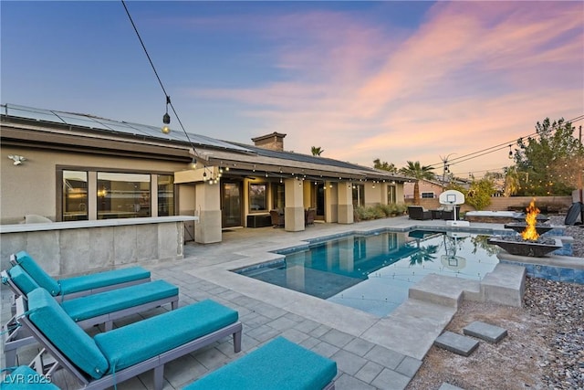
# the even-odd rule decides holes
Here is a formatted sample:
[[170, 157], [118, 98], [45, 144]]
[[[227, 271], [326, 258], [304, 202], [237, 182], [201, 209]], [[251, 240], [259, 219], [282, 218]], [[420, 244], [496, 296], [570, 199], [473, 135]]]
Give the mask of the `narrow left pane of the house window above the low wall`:
[[88, 216], [88, 173], [63, 171], [63, 221], [81, 221]]

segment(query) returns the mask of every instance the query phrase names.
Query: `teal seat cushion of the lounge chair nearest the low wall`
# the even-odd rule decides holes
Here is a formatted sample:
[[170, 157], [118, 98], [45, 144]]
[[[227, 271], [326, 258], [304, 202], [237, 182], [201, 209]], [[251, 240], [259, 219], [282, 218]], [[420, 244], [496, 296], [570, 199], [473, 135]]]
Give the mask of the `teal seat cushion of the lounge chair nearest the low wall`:
[[60, 285], [61, 295], [67, 295], [73, 292], [99, 289], [114, 284], [149, 278], [149, 270], [142, 269], [141, 267], [130, 267], [128, 269], [112, 269], [110, 271], [82, 275], [74, 278], [60, 279], [58, 280], [58, 284]]

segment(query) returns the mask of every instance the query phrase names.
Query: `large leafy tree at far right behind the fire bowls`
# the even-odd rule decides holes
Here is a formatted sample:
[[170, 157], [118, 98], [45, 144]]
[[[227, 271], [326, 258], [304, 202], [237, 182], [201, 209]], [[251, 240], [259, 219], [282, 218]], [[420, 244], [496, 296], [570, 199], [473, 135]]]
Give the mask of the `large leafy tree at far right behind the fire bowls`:
[[559, 175], [568, 167], [578, 173], [578, 162], [584, 157], [582, 143], [573, 136], [572, 124], [564, 119], [537, 122], [536, 132], [527, 140], [517, 140], [514, 155], [520, 173], [517, 195], [569, 195], [577, 184]]

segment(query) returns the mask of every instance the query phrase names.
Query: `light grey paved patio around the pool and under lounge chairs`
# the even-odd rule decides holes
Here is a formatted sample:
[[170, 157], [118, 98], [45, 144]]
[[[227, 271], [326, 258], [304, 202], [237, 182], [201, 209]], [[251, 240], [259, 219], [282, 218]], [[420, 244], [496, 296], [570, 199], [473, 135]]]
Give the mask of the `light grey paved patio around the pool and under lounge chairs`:
[[[454, 283], [447, 280], [446, 284], [451, 289], [446, 292], [443, 291], [443, 281], [432, 279], [424, 283], [422, 280], [419, 283], [422, 286], [416, 286], [416, 292], [411, 292], [410, 299], [388, 317], [378, 318], [297, 291], [249, 279], [229, 269], [248, 267], [277, 258], [278, 255], [268, 251], [300, 245], [307, 238], [383, 227], [409, 229], [415, 226], [445, 227], [445, 222], [413, 221], [407, 216], [400, 216], [353, 225], [317, 223], [305, 231], [294, 233], [272, 227], [232, 229], [224, 231], [221, 243], [188, 244], [182, 260], [147, 266], [151, 269], [152, 279], [165, 279], [179, 287], [180, 306], [210, 298], [238, 311], [244, 326], [241, 353], [234, 353], [232, 341], [224, 339], [222, 343], [215, 343], [203, 351], [166, 364], [164, 388], [182, 388], [277, 335], [335, 360], [339, 367], [335, 385], [339, 390], [405, 388], [436, 337], [451, 321], [460, 300], [480, 299], [481, 294], [488, 295], [488, 291], [496, 296], [493, 289], [496, 290], [497, 278], [493, 278], [495, 286], [491, 281], [486, 292], [482, 291], [478, 282], [473, 284], [464, 279], [456, 279]], [[473, 228], [503, 229], [503, 226], [475, 223], [471, 224]], [[514, 273], [517, 277], [519, 273], [525, 272], [522, 267], [501, 266], [506, 273]], [[516, 279], [512, 282], [516, 283]], [[502, 287], [503, 290], [522, 292], [521, 286]], [[2, 292], [4, 321], [9, 313], [9, 310], [6, 311], [9, 299], [4, 286]], [[506, 296], [504, 299], [507, 299]], [[115, 325], [139, 321], [164, 310], [149, 311], [141, 316], [117, 321]], [[27, 348], [19, 356], [22, 362], [26, 362], [26, 358], [34, 353], [35, 348]], [[61, 388], [77, 388], [78, 383], [62, 371], [55, 375], [54, 382]], [[120, 390], [151, 388], [150, 372], [118, 385]]]

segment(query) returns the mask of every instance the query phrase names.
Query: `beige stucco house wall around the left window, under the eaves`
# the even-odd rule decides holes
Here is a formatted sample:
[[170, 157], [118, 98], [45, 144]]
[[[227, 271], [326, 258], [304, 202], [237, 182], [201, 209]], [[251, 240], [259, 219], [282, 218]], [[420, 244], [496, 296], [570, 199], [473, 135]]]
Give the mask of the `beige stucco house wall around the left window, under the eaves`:
[[[185, 169], [182, 163], [168, 163], [132, 159], [121, 156], [99, 156], [89, 153], [44, 151], [24, 147], [2, 147], [0, 153], [0, 224], [14, 224], [27, 214], [46, 216], [57, 220], [57, 165], [82, 170], [97, 168], [99, 171], [120, 168], [131, 171], [165, 172], [172, 174]], [[10, 154], [26, 157], [22, 165], [14, 165]], [[89, 189], [90, 190], [90, 189]]]

